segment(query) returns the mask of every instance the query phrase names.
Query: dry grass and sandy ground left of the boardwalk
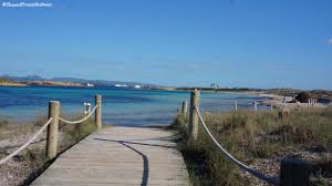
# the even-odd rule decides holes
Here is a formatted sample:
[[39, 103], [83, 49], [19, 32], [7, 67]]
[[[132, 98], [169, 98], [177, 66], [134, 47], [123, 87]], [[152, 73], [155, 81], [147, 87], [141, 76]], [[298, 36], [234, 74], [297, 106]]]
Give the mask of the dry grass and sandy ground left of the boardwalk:
[[[82, 115], [70, 116], [70, 120], [81, 118]], [[18, 148], [29, 137], [31, 137], [44, 123], [45, 116], [40, 116], [31, 124], [11, 124], [7, 120], [0, 118], [0, 158], [6, 157], [9, 152]], [[96, 126], [92, 118], [79, 124], [59, 123], [59, 152], [62, 153], [82, 138], [95, 131]], [[29, 185], [38, 177], [53, 159], [45, 157], [45, 135], [44, 132], [33, 144], [23, 149], [22, 153], [12, 158], [13, 163], [1, 166], [0, 179], [7, 179], [4, 185]], [[3, 145], [6, 141], [10, 144]], [[8, 144], [8, 143], [4, 143]], [[10, 178], [7, 176], [11, 175]], [[3, 177], [4, 176], [4, 177]]]

